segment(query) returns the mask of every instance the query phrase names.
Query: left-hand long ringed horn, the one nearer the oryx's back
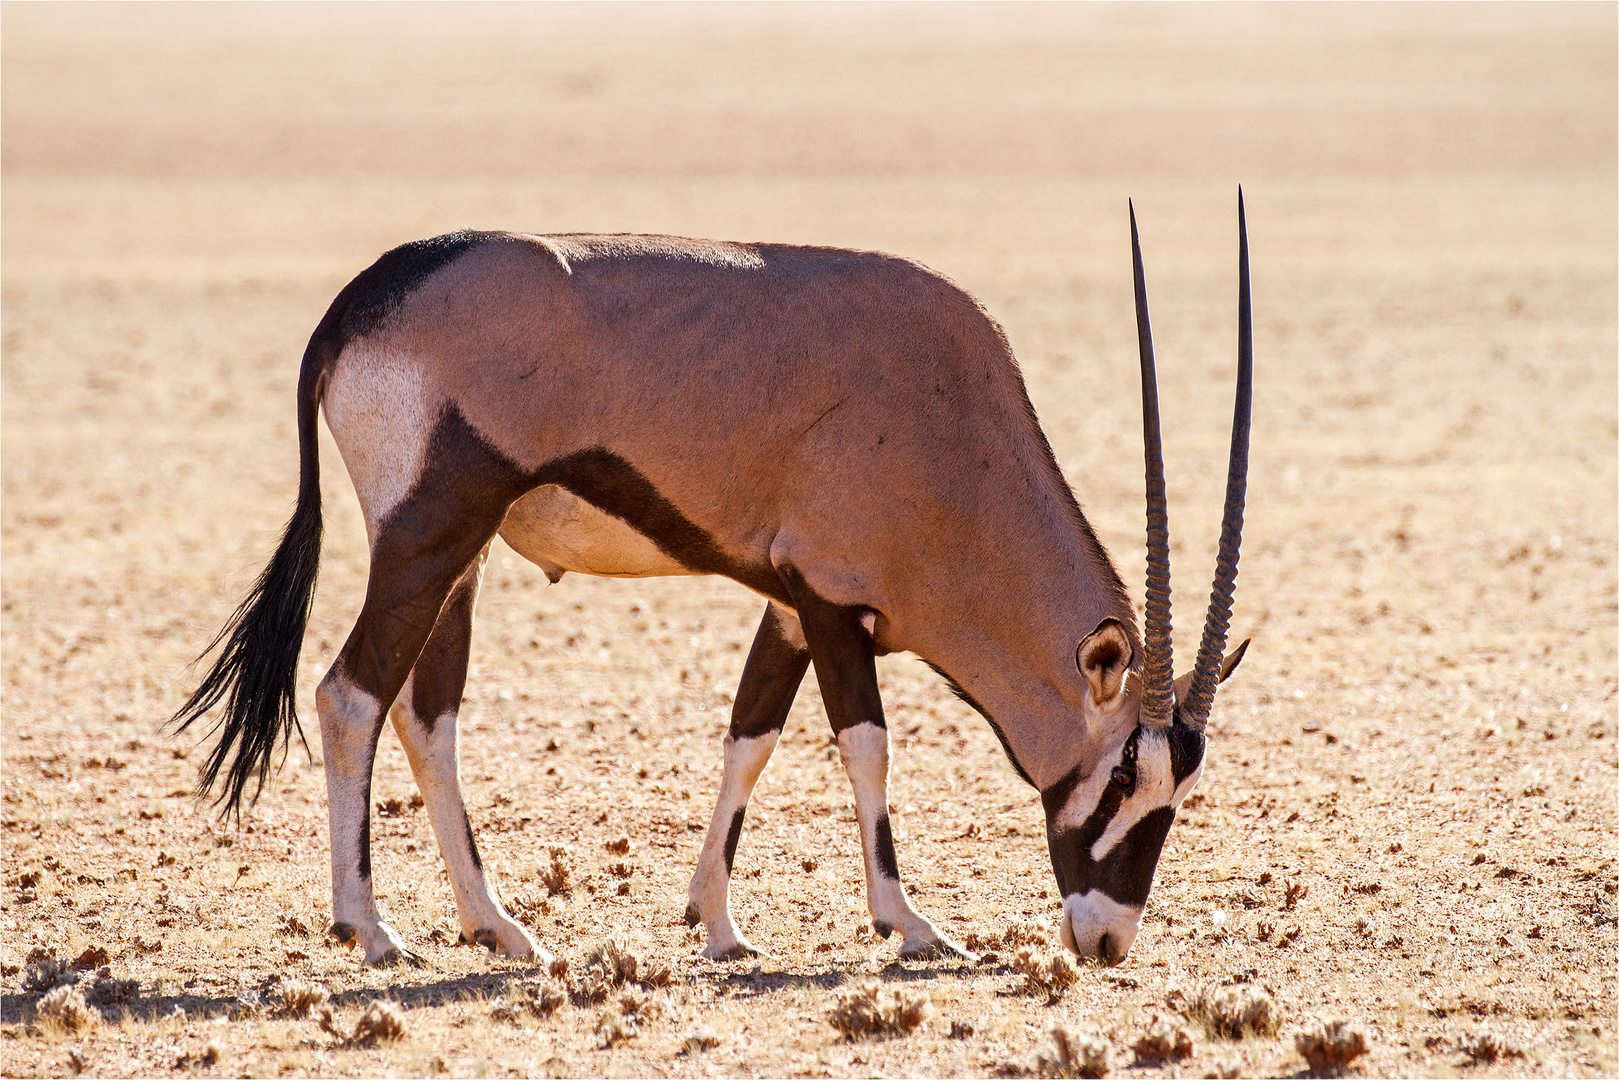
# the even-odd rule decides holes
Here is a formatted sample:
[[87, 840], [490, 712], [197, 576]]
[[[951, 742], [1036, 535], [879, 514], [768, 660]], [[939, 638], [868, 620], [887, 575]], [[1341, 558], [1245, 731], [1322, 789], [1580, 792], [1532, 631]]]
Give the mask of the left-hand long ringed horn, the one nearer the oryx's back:
[[1130, 202], [1135, 259], [1135, 329], [1141, 342], [1141, 442], [1146, 447], [1146, 657], [1141, 669], [1141, 727], [1169, 727], [1175, 714], [1174, 644], [1169, 625], [1169, 499], [1164, 492], [1164, 439], [1158, 426], [1158, 368], [1146, 317], [1141, 236]]

